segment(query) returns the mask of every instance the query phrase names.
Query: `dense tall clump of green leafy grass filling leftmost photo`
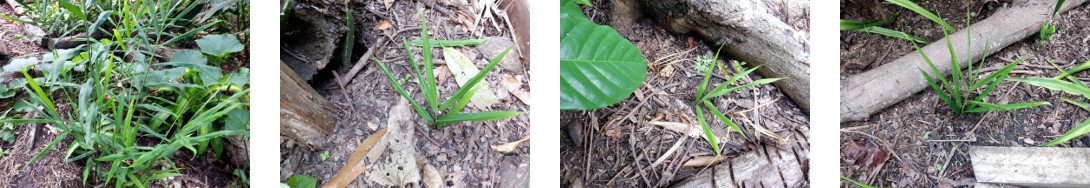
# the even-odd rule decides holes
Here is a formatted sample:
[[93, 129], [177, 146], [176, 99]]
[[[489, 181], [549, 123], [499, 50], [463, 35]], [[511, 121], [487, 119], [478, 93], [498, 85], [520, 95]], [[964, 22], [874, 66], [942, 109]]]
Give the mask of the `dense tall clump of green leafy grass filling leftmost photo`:
[[[179, 150], [223, 157], [223, 142], [235, 139], [228, 136], [247, 139], [250, 70], [225, 72], [216, 64], [245, 48], [237, 36], [250, 36], [242, 19], [249, 17], [249, 1], [62, 0], [22, 5], [32, 20], [22, 22], [49, 35], [23, 37], [102, 35], [85, 35], [80, 38], [85, 44], [51, 49], [40, 60], [27, 55], [4, 66], [5, 72], [22, 75], [11, 89], [27, 93], [14, 110], [41, 118], [0, 118], [0, 125], [41, 124], [61, 133], [36, 149], [40, 151], [27, 165], [70, 140], [61, 149], [63, 158], [84, 165], [85, 185], [147, 187], [156, 179], [181, 176], [174, 162]], [[194, 47], [199, 50], [171, 57], [156, 52]]]

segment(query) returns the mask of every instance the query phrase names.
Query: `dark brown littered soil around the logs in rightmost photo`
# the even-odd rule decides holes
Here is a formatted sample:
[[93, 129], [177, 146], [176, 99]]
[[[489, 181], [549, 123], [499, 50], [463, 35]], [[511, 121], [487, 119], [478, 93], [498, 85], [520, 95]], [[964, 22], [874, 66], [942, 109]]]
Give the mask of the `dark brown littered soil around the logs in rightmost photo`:
[[[935, 1], [937, 2], [937, 1]], [[935, 2], [924, 1], [921, 5], [929, 10], [935, 10], [938, 5]], [[952, 2], [958, 4], [964, 2]], [[970, 2], [970, 8], [989, 7], [994, 2], [985, 1]], [[958, 5], [948, 5], [957, 8]], [[857, 7], [856, 2], [841, 4], [841, 17], [852, 20], [868, 20], [863, 15], [855, 14], [870, 10], [867, 7]], [[1006, 3], [998, 3], [1003, 7]], [[892, 8], [893, 5], [883, 5]], [[961, 7], [964, 8], [964, 7]], [[965, 10], [940, 10], [943, 15], [965, 15]], [[980, 16], [980, 17], [978, 17]], [[989, 56], [981, 67], [998, 68], [1013, 62], [1021, 55], [1028, 55], [1025, 61], [1019, 63], [1010, 77], [1054, 77], [1059, 73], [1046, 60], [1056, 62], [1064, 69], [1078, 66], [1090, 60], [1087, 51], [1085, 36], [1090, 35], [1090, 22], [1086, 17], [1090, 16], [1090, 7], [1082, 4], [1066, 13], [1057, 14], [1055, 20], [1059, 25], [1053, 42], [1044, 46], [1037, 46], [1034, 37], [1029, 37], [1007, 46], [995, 55]], [[910, 31], [931, 31], [941, 37], [941, 31], [936, 25], [924, 24], [930, 21], [920, 19], [918, 14], [901, 14], [896, 27], [918, 27]], [[954, 25], [964, 28], [964, 16], [961, 21], [954, 17]], [[973, 23], [984, 17], [977, 15]], [[948, 22], [950, 20], [947, 20]], [[919, 24], [911, 24], [919, 22]], [[915, 25], [915, 26], [912, 26]], [[911, 33], [929, 40], [937, 39], [934, 34]], [[927, 33], [927, 32], [922, 32]], [[1036, 36], [1036, 35], [1034, 35]], [[871, 40], [870, 43], [863, 43]], [[857, 43], [858, 42], [858, 43]], [[885, 62], [901, 55], [912, 52], [910, 44], [905, 40], [893, 39], [860, 32], [841, 32], [841, 80], [863, 70], [850, 68], [853, 63], [865, 63], [867, 59], [882, 57], [875, 62]], [[863, 44], [859, 44], [863, 43]], [[886, 49], [870, 49], [875, 46], [894, 46]], [[886, 57], [886, 55], [888, 56]], [[861, 58], [863, 57], [863, 58]], [[865, 58], [871, 57], [871, 58]], [[861, 60], [862, 59], [862, 60]], [[874, 64], [877, 66], [877, 64]], [[874, 66], [870, 67], [873, 68]], [[869, 69], [869, 68], [868, 68]], [[982, 74], [994, 72], [994, 70], [981, 72]], [[1075, 77], [1086, 81], [1090, 73], [1081, 72]], [[894, 186], [894, 187], [948, 187], [957, 186], [955, 183], [974, 181], [972, 166], [969, 161], [968, 148], [970, 145], [995, 145], [995, 146], [1036, 146], [1049, 142], [1075, 125], [1078, 125], [1088, 117], [1090, 113], [1077, 106], [1065, 103], [1062, 97], [1078, 98], [1083, 97], [1069, 95], [1058, 91], [1051, 91], [1038, 86], [1022, 84], [1018, 82], [1003, 82], [991, 93], [985, 102], [1007, 104], [1024, 103], [1034, 101], [1045, 101], [1052, 106], [1039, 106], [1024, 108], [1014, 111], [990, 111], [982, 114], [971, 114], [955, 116], [948, 106], [938, 98], [934, 91], [925, 90], [917, 93], [905, 101], [886, 108], [867, 121], [848, 122], [841, 125], [843, 131], [840, 144], [844, 148], [850, 140], [868, 141], [879, 144], [888, 154], [894, 155], [883, 165], [875, 167], [863, 167], [853, 165], [844, 158], [841, 153], [840, 174], [872, 186]], [[870, 134], [870, 136], [868, 136]], [[873, 136], [873, 137], [871, 137]], [[1068, 143], [1058, 146], [1090, 145], [1090, 139], [1079, 137]], [[938, 166], [942, 166], [941, 168]], [[964, 186], [964, 185], [962, 185]], [[850, 183], [841, 181], [841, 187], [855, 187]]]

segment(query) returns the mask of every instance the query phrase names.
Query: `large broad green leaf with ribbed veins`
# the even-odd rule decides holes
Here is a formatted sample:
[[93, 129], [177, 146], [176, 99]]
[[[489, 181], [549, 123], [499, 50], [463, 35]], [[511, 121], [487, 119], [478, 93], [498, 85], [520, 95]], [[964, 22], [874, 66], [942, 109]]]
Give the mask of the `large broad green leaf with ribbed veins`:
[[614, 28], [560, 1], [560, 109], [596, 109], [631, 95], [647, 77], [647, 60]]

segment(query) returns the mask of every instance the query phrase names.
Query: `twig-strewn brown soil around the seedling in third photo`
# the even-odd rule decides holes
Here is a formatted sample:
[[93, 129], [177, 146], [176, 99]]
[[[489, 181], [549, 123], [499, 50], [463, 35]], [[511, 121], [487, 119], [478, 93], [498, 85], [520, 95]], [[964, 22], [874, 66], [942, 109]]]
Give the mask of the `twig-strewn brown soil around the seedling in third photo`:
[[[613, 3], [592, 3], [595, 5], [583, 7], [584, 14], [598, 24], [610, 24]], [[647, 59], [647, 78], [634, 94], [618, 104], [596, 110], [561, 111], [560, 129], [565, 133], [560, 139], [560, 183], [564, 187], [665, 187], [702, 171], [713, 171], [711, 167], [681, 166], [695, 156], [715, 155], [702, 134], [688, 137], [651, 122], [697, 124], [691, 105], [704, 75], [694, 69], [697, 59], [714, 57], [717, 47], [692, 35], [666, 32], [647, 19], [639, 19], [631, 27], [632, 31], [619, 32]], [[719, 57], [719, 61], [732, 68], [729, 60], [725, 55]], [[728, 77], [717, 74], [708, 85], [723, 83]], [[754, 73], [740, 83], [758, 79], [761, 77]], [[749, 138], [760, 138], [756, 143], [747, 142], [725, 124], [711, 119], [713, 131], [730, 136], [728, 142], [720, 142], [724, 155], [735, 156], [762, 146], [766, 150], [790, 150], [787, 144], [809, 148], [802, 133], [809, 130], [809, 116], [771, 84], [742, 89], [714, 103], [741, 126]], [[750, 110], [754, 106], [759, 108]], [[764, 134], [756, 136], [754, 124], [798, 142], [782, 145]], [[671, 148], [676, 148], [673, 153]]]

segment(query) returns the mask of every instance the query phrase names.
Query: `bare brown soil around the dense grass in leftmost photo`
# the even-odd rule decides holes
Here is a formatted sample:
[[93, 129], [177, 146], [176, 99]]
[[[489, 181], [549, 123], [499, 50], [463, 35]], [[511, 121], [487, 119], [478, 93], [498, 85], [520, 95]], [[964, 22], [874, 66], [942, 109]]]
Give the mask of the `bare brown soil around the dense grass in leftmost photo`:
[[[3, 1], [0, 2], [0, 14], [4, 15], [16, 15], [12, 11], [11, 7]], [[32, 37], [21, 37], [24, 35], [33, 35], [24, 32], [24, 24], [14, 22], [7, 19], [0, 19], [0, 47], [7, 47], [5, 49], [0, 49], [0, 67], [8, 63], [8, 60], [13, 57], [23, 55], [34, 55], [35, 57], [41, 59], [39, 52], [47, 52], [49, 49], [43, 49], [38, 46], [38, 40], [32, 39]], [[249, 37], [240, 37], [243, 44], [247, 46], [249, 49]], [[192, 42], [182, 43], [183, 46], [190, 48], [196, 48], [196, 45]], [[234, 72], [241, 67], [250, 67], [249, 50], [243, 50], [239, 52], [235, 59], [229, 60], [230, 63], [222, 63], [223, 72]], [[233, 56], [234, 57], [234, 56]], [[241, 62], [241, 63], [240, 63]], [[14, 78], [22, 78], [21, 74], [0, 73], [0, 77], [5, 77], [0, 80], [11, 80]], [[7, 84], [7, 83], [0, 83]], [[20, 89], [22, 90], [22, 89]], [[26, 99], [25, 92], [19, 92], [15, 97], [0, 99], [0, 109], [9, 109], [12, 107], [14, 102], [20, 99]], [[62, 98], [61, 94], [55, 93], [53, 98]], [[58, 102], [58, 109], [62, 113], [65, 110], [68, 102]], [[14, 115], [12, 111], [9, 114]], [[23, 118], [40, 118], [33, 113], [23, 116]], [[12, 143], [7, 143], [0, 141], [0, 150], [3, 153], [0, 155], [0, 187], [95, 187], [101, 185], [84, 185], [83, 173], [84, 164], [86, 161], [80, 160], [75, 162], [66, 162], [65, 160], [65, 149], [69, 148], [72, 142], [72, 138], [64, 139], [60, 141], [52, 150], [43, 155], [40, 158], [32, 164], [26, 164], [27, 161], [33, 158], [43, 149], [45, 149], [50, 142], [52, 142], [57, 136], [60, 134], [57, 130], [52, 128], [51, 125], [22, 125], [15, 128], [16, 138]], [[150, 141], [147, 145], [153, 144]], [[228, 144], [225, 142], [225, 144]], [[247, 185], [240, 181], [240, 179], [233, 175], [233, 171], [237, 168], [247, 168], [246, 166], [233, 165], [225, 160], [216, 158], [213, 154], [205, 154], [198, 157], [193, 157], [193, 154], [187, 150], [180, 150], [174, 156], [174, 163], [184, 169], [179, 171], [182, 176], [168, 178], [164, 180], [155, 180], [152, 183], [152, 187], [249, 187]], [[100, 166], [102, 168], [108, 168], [108, 166]], [[249, 174], [249, 173], [247, 173]], [[88, 183], [92, 181], [88, 179]]]

